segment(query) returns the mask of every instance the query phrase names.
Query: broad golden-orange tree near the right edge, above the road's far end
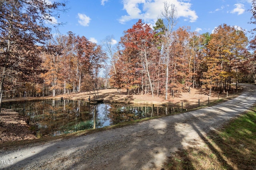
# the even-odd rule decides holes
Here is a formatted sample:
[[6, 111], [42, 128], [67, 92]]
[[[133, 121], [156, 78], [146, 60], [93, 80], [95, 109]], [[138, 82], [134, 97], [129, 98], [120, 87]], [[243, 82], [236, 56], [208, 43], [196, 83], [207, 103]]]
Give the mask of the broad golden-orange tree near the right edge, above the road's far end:
[[246, 59], [247, 44], [248, 39], [244, 31], [226, 24], [218, 26], [211, 34], [204, 58], [207, 69], [201, 79], [202, 87], [210, 90], [209, 95], [212, 88], [219, 88], [220, 92], [225, 90], [231, 83], [231, 78], [237, 75], [237, 63]]

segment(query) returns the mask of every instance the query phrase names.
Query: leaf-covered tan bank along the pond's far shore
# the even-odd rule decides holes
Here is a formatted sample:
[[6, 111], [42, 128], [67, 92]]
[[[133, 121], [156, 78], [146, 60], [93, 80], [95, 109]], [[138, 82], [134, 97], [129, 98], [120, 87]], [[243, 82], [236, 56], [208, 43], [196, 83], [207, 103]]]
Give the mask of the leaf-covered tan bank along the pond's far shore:
[[[189, 92], [182, 92], [176, 94], [174, 98], [169, 96], [168, 100], [164, 100], [164, 96], [154, 96], [150, 94], [135, 94], [127, 95], [125, 90], [122, 90], [121, 93], [116, 92], [116, 89], [105, 89], [98, 90], [96, 94], [97, 98], [104, 99], [104, 103], [107, 104], [134, 104], [134, 105], [156, 105], [156, 106], [181, 106], [188, 107], [188, 109], [198, 106], [198, 100], [202, 105], [207, 105], [219, 99], [226, 98], [226, 92], [219, 94], [218, 92], [212, 92], [212, 96], [208, 96], [205, 91], [196, 88], [190, 88]], [[238, 92], [233, 93], [233, 89], [228, 94], [230, 97], [237, 97], [242, 92], [242, 89], [239, 89]], [[70, 94], [61, 94], [58, 96], [46, 96], [46, 97], [26, 97], [26, 98], [14, 98], [14, 99], [3, 99], [2, 102], [28, 102], [28, 101], [39, 101], [39, 100], [60, 100], [61, 98], [65, 100], [83, 100], [88, 101], [90, 97], [94, 94], [92, 92], [79, 92], [79, 93], [70, 93]], [[89, 102], [89, 101], [88, 101]]]

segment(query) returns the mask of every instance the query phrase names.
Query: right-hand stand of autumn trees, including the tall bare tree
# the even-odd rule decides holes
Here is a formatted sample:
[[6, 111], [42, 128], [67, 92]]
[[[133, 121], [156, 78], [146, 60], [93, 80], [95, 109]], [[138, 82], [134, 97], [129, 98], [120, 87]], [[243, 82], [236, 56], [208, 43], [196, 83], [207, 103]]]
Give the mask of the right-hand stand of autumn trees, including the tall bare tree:
[[166, 2], [153, 28], [139, 20], [124, 31], [110, 72], [114, 87], [167, 99], [190, 87], [208, 89], [210, 96], [212, 90], [230, 90], [231, 83], [237, 88], [238, 82], [254, 81], [255, 57], [245, 30], [225, 23], [211, 34], [174, 30], [176, 18], [175, 6]]

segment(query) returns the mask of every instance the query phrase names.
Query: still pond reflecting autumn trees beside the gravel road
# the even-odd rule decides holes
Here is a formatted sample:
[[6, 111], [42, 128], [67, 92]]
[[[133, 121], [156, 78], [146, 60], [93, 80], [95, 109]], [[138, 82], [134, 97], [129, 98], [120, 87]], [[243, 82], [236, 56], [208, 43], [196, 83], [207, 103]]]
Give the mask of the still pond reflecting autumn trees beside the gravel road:
[[30, 125], [43, 136], [62, 135], [117, 123], [170, 115], [185, 109], [174, 107], [125, 106], [120, 104], [92, 105], [79, 100], [42, 100], [3, 103], [2, 108], [14, 109], [29, 118]]

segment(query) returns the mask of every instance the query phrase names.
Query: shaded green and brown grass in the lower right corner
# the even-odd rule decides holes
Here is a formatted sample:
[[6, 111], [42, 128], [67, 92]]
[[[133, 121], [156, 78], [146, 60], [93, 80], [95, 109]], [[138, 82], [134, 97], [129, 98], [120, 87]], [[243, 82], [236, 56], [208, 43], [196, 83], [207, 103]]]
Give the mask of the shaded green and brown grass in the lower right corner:
[[256, 106], [204, 139], [204, 147], [173, 153], [165, 170], [255, 170]]

